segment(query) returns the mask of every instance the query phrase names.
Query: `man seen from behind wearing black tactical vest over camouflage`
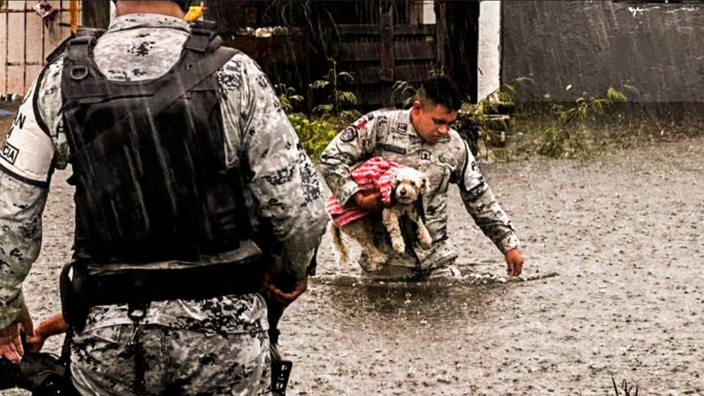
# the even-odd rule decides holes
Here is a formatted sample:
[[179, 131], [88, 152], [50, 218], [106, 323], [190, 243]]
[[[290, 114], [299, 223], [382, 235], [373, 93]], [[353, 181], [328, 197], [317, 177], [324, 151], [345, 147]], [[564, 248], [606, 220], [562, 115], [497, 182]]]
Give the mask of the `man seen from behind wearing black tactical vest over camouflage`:
[[117, 1], [105, 34], [50, 56], [1, 151], [0, 356], [32, 338], [22, 283], [70, 164], [61, 319], [82, 395], [270, 395], [263, 295], [306, 290], [328, 221], [267, 77], [184, 22], [189, 3]]

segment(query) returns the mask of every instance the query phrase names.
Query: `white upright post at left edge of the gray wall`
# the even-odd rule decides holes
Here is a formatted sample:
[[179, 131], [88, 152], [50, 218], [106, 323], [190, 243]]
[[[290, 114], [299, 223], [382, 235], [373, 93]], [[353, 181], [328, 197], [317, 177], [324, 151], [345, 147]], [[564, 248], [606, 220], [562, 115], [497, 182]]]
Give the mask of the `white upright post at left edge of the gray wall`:
[[482, 1], [479, 5], [479, 100], [501, 84], [501, 1]]

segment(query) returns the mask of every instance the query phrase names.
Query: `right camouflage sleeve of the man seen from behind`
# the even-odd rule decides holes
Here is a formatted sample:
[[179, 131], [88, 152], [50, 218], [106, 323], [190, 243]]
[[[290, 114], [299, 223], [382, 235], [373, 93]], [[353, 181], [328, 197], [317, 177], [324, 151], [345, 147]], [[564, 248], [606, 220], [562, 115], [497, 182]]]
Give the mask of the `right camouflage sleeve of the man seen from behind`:
[[251, 58], [235, 56], [218, 78], [227, 158], [248, 173], [258, 219], [270, 224], [284, 262], [302, 279], [329, 219], [313, 162], [268, 78]]

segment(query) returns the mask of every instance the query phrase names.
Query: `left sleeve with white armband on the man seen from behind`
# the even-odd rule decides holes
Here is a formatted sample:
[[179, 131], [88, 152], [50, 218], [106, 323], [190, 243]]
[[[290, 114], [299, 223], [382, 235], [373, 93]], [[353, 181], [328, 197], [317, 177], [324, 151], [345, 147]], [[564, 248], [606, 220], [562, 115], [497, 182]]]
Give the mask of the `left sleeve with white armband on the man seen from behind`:
[[23, 307], [22, 283], [39, 256], [54, 143], [46, 133], [35, 80], [0, 148], [0, 328]]

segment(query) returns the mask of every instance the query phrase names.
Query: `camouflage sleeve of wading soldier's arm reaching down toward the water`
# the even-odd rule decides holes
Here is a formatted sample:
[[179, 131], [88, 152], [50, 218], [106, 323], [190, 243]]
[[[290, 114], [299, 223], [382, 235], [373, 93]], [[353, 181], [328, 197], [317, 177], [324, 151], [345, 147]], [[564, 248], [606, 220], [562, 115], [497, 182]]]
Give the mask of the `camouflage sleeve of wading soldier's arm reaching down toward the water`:
[[508, 215], [498, 205], [489, 184], [484, 181], [484, 176], [479, 171], [474, 155], [467, 147], [467, 143], [464, 141], [463, 143], [465, 155], [456, 170], [457, 174], [454, 175], [460, 188], [460, 196], [462, 196], [467, 212], [472, 216], [477, 226], [482, 229], [484, 235], [494, 242], [501, 253], [506, 253], [508, 250], [517, 248], [520, 241]]

